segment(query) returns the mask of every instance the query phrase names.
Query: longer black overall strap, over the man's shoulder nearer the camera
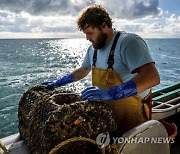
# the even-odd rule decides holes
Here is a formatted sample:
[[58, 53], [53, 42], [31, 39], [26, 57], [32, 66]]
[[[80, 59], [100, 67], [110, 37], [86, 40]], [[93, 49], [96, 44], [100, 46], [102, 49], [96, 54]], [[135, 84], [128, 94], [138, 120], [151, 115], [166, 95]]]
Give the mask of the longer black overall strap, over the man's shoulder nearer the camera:
[[120, 32], [117, 32], [115, 39], [114, 39], [114, 42], [113, 42], [113, 45], [111, 47], [111, 51], [109, 53], [109, 58], [108, 58], [108, 62], [107, 62], [108, 68], [113, 68], [112, 66], [114, 64], [114, 51], [115, 51], [116, 44], [117, 44], [119, 36], [120, 36]]

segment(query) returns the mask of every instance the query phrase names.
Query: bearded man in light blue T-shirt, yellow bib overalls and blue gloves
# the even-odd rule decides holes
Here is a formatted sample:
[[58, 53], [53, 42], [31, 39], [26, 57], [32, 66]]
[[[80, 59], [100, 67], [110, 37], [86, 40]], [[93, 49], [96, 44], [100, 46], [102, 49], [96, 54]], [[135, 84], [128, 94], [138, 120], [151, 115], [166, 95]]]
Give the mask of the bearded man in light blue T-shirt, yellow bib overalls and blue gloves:
[[159, 84], [160, 78], [144, 40], [115, 31], [100, 5], [86, 8], [77, 24], [92, 42], [82, 66], [44, 84], [61, 86], [84, 78], [92, 70], [93, 86], [82, 91], [81, 99], [105, 101], [121, 133], [151, 119], [150, 88]]

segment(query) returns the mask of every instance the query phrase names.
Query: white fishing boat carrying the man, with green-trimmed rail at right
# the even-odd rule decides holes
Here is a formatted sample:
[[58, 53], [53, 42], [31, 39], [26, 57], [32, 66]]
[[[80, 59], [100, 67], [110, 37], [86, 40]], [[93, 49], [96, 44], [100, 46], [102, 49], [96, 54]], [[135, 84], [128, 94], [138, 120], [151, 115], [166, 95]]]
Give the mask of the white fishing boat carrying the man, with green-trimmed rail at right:
[[[180, 83], [153, 91], [152, 120], [124, 133], [120, 138], [121, 142], [116, 144], [118, 152], [122, 154], [180, 152], [179, 118]], [[125, 142], [122, 139], [130, 139], [132, 142]], [[0, 154], [30, 154], [19, 133], [2, 138], [0, 141]]]

